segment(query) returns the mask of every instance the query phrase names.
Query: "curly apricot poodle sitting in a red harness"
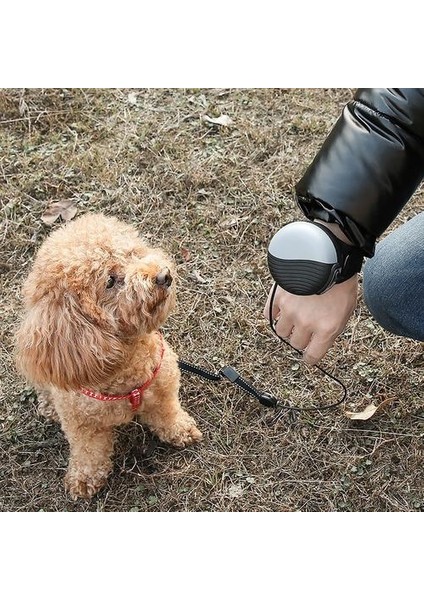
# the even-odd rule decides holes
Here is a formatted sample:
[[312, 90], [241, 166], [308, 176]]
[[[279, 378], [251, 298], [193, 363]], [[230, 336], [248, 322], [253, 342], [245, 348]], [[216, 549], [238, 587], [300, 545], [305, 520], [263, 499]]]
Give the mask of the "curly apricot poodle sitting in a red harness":
[[65, 486], [90, 497], [112, 469], [114, 427], [137, 416], [162, 441], [202, 438], [180, 406], [177, 356], [158, 329], [174, 266], [137, 231], [87, 214], [52, 233], [24, 283], [17, 365], [70, 444]]

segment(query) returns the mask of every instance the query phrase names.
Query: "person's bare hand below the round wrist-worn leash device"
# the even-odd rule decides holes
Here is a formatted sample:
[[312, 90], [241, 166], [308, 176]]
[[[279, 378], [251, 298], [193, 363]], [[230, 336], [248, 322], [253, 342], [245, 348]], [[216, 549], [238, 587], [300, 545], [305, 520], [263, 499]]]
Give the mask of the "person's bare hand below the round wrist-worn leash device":
[[[264, 310], [269, 317], [271, 292]], [[275, 330], [293, 348], [303, 352], [305, 362], [317, 363], [343, 331], [356, 307], [358, 276], [333, 285], [320, 295], [296, 296], [278, 287], [274, 297], [272, 318]]]

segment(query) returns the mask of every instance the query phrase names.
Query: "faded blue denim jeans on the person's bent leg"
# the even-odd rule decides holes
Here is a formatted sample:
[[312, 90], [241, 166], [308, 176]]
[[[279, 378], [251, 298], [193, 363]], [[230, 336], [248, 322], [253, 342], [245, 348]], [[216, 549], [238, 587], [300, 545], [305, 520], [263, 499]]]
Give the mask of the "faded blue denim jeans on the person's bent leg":
[[364, 299], [376, 321], [424, 341], [424, 212], [377, 244], [363, 273]]

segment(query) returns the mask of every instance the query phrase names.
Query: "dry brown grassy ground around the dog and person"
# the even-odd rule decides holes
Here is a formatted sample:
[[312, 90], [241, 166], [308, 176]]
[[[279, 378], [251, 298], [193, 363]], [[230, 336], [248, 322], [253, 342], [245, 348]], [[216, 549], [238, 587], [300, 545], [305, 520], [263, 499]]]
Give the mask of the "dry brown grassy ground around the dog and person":
[[[345, 407], [296, 422], [225, 383], [183, 375], [181, 398], [204, 432], [195, 447], [119, 430], [115, 469], [91, 501], [64, 493], [68, 446], [36, 412], [13, 366], [20, 285], [55, 223], [47, 206], [127, 220], [179, 265], [168, 340], [182, 358], [236, 366], [300, 405], [339, 389], [273, 338], [262, 318], [267, 244], [300, 216], [292, 188], [351, 90], [0, 90], [0, 510], [419, 511], [422, 345], [396, 338], [362, 301], [323, 362], [348, 386]], [[231, 117], [211, 126], [203, 115]], [[424, 209], [418, 191], [396, 224]], [[364, 422], [345, 410], [392, 398]]]

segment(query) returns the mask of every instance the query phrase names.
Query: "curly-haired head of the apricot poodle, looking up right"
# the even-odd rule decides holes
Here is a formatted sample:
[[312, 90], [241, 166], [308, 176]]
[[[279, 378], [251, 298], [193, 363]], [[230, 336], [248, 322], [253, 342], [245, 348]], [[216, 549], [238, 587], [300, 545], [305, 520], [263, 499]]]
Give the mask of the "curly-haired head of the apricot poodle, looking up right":
[[90, 214], [52, 233], [23, 285], [17, 365], [36, 384], [104, 383], [175, 302], [174, 265], [137, 231]]

